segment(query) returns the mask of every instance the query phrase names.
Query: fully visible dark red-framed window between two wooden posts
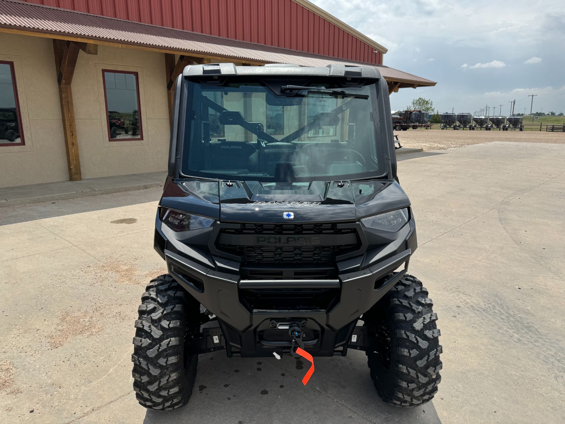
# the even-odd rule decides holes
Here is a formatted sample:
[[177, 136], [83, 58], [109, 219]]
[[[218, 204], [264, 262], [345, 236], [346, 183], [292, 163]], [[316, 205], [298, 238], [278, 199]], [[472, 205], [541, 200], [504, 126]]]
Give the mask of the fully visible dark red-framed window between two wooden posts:
[[137, 72], [102, 70], [110, 141], [141, 140]]

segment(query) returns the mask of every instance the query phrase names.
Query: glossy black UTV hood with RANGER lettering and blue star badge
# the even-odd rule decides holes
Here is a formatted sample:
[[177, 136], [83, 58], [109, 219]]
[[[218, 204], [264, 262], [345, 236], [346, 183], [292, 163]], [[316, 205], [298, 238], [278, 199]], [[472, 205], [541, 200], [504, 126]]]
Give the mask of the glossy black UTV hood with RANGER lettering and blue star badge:
[[396, 181], [168, 180], [161, 205], [223, 222], [354, 222], [410, 205]]

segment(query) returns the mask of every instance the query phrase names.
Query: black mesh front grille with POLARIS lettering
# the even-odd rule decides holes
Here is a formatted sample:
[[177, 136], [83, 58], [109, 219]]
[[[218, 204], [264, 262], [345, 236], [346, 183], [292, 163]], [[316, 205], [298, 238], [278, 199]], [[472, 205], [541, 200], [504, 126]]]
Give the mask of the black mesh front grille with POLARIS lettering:
[[315, 265], [358, 249], [359, 238], [355, 228], [334, 223], [241, 223], [222, 228], [216, 248], [241, 257], [244, 265]]

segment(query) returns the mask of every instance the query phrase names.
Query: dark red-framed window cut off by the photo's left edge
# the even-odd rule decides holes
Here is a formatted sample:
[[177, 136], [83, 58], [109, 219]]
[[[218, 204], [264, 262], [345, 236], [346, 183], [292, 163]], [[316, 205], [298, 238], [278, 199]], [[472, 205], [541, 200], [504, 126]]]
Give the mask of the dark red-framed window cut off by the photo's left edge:
[[0, 60], [0, 146], [23, 146], [14, 62]]

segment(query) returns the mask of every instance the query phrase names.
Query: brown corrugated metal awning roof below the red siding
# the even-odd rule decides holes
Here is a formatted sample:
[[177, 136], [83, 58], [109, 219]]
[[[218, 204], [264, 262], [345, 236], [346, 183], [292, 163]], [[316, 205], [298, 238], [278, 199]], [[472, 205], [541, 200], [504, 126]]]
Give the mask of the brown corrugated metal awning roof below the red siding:
[[[212, 57], [259, 63], [295, 63], [302, 66], [326, 66], [335, 63], [375, 66], [231, 38], [8, 0], [0, 0], [0, 28], [41, 32], [57, 35], [60, 38], [79, 37], [84, 41], [146, 46], [177, 53], [200, 53]], [[376, 67], [387, 81], [400, 82], [401, 86], [436, 85], [434, 81], [410, 73], [386, 66]]]

